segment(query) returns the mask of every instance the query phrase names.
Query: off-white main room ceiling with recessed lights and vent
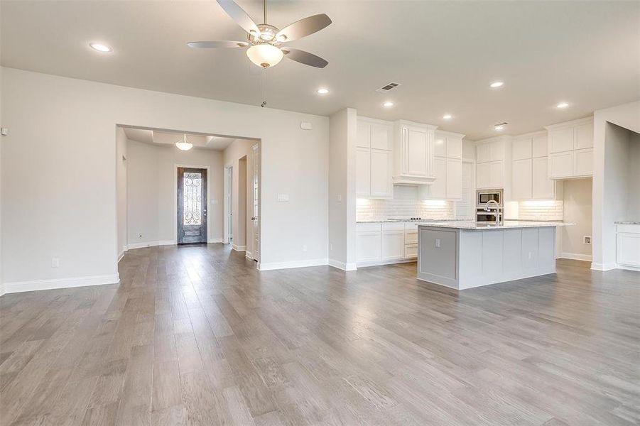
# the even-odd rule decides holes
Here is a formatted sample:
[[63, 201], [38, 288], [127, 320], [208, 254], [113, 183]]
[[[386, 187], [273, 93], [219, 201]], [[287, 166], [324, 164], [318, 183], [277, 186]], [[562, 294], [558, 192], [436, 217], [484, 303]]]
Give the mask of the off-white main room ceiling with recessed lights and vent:
[[[261, 1], [237, 0], [261, 21]], [[283, 60], [261, 72], [241, 49], [192, 50], [192, 40], [245, 40], [215, 1], [0, 2], [1, 63], [129, 87], [328, 115], [344, 107], [493, 136], [518, 134], [640, 99], [639, 1], [272, 1], [283, 28], [314, 13], [333, 23], [291, 46], [329, 61]], [[99, 54], [87, 44], [114, 48]], [[503, 80], [502, 89], [489, 83]], [[394, 92], [375, 89], [400, 82]], [[315, 94], [318, 87], [331, 92]], [[396, 102], [391, 109], [381, 103]], [[555, 109], [560, 101], [570, 103]], [[453, 114], [445, 121], [443, 114]]]

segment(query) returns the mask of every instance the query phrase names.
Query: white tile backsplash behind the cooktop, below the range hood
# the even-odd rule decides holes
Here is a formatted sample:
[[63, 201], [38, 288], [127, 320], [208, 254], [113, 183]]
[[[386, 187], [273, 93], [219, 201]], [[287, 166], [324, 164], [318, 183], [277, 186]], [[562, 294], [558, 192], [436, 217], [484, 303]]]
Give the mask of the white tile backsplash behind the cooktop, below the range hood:
[[359, 198], [356, 204], [356, 220], [375, 220], [397, 217], [408, 219], [452, 219], [454, 202], [445, 200], [418, 200], [418, 187], [396, 185], [393, 200], [368, 200]]

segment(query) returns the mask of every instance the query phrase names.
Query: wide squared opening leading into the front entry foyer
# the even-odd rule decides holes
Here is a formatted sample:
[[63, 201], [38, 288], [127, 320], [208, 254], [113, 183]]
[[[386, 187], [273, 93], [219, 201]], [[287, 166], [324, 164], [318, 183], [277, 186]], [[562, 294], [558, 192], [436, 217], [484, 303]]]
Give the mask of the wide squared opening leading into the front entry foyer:
[[258, 139], [122, 125], [115, 136], [118, 260], [131, 249], [223, 243], [259, 258]]

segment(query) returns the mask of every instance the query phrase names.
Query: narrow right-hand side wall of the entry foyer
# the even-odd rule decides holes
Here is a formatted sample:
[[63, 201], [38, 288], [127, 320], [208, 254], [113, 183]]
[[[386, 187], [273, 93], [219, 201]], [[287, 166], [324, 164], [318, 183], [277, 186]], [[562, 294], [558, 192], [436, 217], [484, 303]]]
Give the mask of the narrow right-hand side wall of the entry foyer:
[[[232, 231], [234, 236], [234, 249], [244, 250], [242, 247], [246, 246], [246, 251], [249, 256], [251, 256], [253, 252], [253, 239], [247, 239], [246, 235], [250, 233], [252, 226], [251, 214], [248, 214], [248, 212], [251, 212], [253, 202], [251, 179], [254, 173], [253, 146], [256, 145], [256, 143], [259, 143], [259, 141], [236, 139], [224, 150], [224, 167], [229, 165], [233, 167]], [[241, 162], [242, 158], [245, 160], [244, 164]], [[244, 170], [242, 170], [243, 168]], [[243, 189], [241, 190], [241, 188]]]

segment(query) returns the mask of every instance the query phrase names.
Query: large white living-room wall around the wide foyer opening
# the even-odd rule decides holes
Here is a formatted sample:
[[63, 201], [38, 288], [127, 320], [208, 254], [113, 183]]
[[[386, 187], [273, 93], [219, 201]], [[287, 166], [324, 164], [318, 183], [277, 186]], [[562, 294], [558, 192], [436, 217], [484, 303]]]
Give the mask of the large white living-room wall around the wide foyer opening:
[[327, 117], [11, 68], [1, 78], [5, 282], [117, 280], [116, 124], [261, 139], [262, 262], [327, 258]]

